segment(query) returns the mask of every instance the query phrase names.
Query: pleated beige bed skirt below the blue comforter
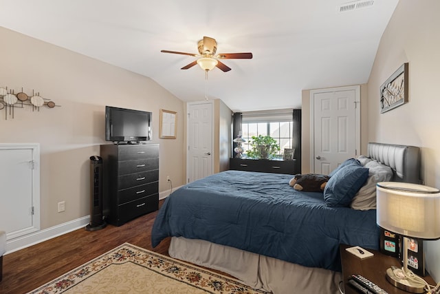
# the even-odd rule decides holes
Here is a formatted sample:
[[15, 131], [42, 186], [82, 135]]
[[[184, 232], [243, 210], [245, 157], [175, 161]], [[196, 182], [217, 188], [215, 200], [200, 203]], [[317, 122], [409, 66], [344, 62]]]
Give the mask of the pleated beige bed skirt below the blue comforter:
[[223, 271], [248, 286], [274, 294], [340, 293], [339, 272], [300, 266], [230, 246], [173, 237], [168, 253], [179, 260]]

